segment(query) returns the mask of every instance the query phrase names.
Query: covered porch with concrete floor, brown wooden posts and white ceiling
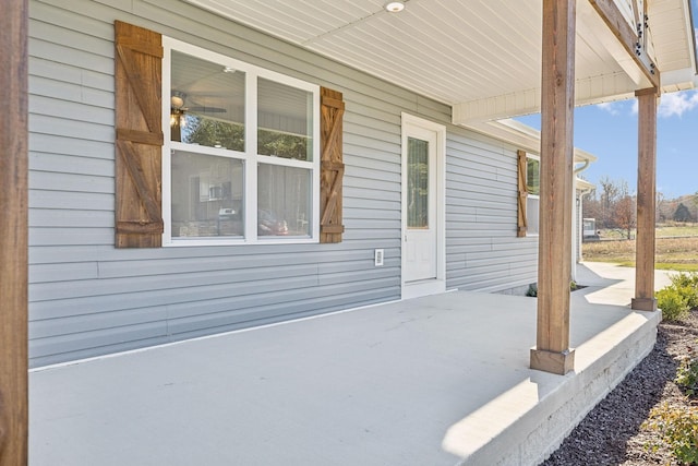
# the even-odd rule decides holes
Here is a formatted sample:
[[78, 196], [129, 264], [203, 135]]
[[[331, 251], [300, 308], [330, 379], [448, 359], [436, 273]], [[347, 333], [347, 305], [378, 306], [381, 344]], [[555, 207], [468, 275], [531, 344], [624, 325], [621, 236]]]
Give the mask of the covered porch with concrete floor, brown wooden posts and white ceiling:
[[[650, 227], [655, 107], [662, 92], [696, 83], [688, 2], [480, 2], [479, 14], [459, 2], [462, 10], [442, 5], [434, 16], [430, 2], [414, 1], [402, 16], [389, 16], [370, 1], [363, 3], [371, 9], [337, 12], [336, 21], [324, 11], [309, 14], [311, 2], [279, 11], [256, 2], [246, 16], [234, 8], [243, 3], [216, 12], [450, 105], [455, 126], [478, 130], [542, 112], [541, 180], [551, 191], [541, 193], [541, 304], [455, 291], [34, 371], [32, 464], [534, 464], [653, 343], [660, 316], [652, 289], [661, 286]], [[13, 0], [7, 12], [3, 465], [24, 464], [27, 454], [28, 1]], [[651, 31], [646, 14], [658, 20]], [[299, 36], [298, 24], [311, 37]], [[425, 32], [430, 44], [414, 32]], [[404, 44], [392, 46], [395, 37]], [[342, 56], [346, 44], [358, 46]], [[679, 59], [661, 60], [674, 52]], [[598, 286], [570, 298], [571, 108], [633, 96], [641, 135], [638, 283], [604, 270]], [[631, 298], [647, 312], [631, 311]]]

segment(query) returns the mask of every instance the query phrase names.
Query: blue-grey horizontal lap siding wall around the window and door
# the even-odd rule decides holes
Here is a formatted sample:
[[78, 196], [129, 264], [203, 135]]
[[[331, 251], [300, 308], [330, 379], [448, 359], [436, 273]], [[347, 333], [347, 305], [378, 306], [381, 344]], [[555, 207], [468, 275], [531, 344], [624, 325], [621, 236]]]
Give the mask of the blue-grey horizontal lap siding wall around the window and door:
[[[29, 5], [31, 366], [399, 299], [402, 111], [447, 124], [447, 288], [535, 280], [517, 147], [448, 106], [178, 0]], [[342, 92], [344, 241], [115, 249], [115, 20]]]

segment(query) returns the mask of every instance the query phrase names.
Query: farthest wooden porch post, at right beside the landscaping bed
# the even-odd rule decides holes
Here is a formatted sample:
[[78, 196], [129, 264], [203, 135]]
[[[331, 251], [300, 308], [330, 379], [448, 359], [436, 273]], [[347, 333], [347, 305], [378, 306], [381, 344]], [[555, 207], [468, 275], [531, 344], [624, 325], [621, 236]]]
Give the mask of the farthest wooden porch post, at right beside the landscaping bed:
[[654, 215], [657, 211], [657, 88], [635, 93], [638, 99], [637, 242], [635, 298], [631, 308], [655, 311]]

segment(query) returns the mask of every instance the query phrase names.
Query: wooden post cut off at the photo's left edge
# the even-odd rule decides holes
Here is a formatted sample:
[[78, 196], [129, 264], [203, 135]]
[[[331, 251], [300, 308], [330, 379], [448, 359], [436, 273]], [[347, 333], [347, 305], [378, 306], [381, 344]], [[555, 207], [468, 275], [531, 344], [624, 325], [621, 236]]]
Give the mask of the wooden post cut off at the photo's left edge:
[[0, 14], [0, 466], [27, 464], [28, 1]]

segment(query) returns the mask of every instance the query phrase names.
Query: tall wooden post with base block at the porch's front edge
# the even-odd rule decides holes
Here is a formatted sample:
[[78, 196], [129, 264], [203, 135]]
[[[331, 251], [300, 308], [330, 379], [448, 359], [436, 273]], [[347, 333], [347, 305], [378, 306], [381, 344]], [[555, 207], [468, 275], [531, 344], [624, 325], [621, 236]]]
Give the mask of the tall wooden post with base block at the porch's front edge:
[[571, 272], [575, 0], [543, 0], [537, 345], [531, 369], [565, 374]]

